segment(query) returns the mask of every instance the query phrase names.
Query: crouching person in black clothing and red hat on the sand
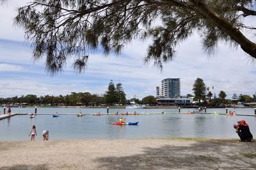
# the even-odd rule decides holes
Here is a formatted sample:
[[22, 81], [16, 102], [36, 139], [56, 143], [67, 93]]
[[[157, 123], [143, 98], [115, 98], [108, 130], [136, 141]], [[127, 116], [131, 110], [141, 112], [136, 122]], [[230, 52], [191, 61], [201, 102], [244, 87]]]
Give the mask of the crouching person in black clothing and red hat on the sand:
[[242, 142], [250, 142], [252, 141], [252, 134], [250, 132], [250, 128], [248, 124], [244, 120], [237, 121], [238, 125], [234, 125], [236, 128], [236, 132], [239, 135]]

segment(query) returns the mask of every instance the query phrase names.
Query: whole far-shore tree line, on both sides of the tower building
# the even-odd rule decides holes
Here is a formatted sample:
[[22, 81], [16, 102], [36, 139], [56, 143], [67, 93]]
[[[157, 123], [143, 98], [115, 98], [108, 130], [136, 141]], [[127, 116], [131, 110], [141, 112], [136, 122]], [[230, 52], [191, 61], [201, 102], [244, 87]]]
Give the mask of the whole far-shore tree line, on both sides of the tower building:
[[[211, 88], [212, 90], [214, 87]], [[225, 91], [220, 91], [218, 96], [212, 93], [211, 89], [205, 86], [203, 79], [197, 78], [193, 84], [194, 94], [188, 94], [187, 98], [193, 97], [194, 105], [207, 105], [209, 107], [226, 107], [228, 104], [237, 104], [237, 102], [256, 102], [256, 93], [250, 97], [249, 95], [236, 93], [231, 99], [227, 99]], [[36, 97], [36, 95], [26, 95], [21, 97], [0, 98], [0, 105], [83, 105], [83, 106], [122, 106], [135, 102], [136, 104], [157, 105], [156, 98], [152, 95], [144, 97], [142, 100], [138, 98], [130, 98], [127, 100], [122, 83], [116, 85], [111, 80], [107, 91], [103, 95], [91, 94], [89, 92], [72, 92], [70, 95], [59, 95], [57, 97], [45, 95]]]

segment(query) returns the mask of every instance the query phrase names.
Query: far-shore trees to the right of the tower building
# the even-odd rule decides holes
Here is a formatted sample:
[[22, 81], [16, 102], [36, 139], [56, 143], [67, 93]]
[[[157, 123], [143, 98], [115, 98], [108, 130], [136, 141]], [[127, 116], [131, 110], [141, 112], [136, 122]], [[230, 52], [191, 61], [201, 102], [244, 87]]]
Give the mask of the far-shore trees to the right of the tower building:
[[[214, 87], [212, 86], [212, 90]], [[198, 102], [198, 105], [209, 105], [212, 107], [224, 107], [227, 104], [237, 104], [237, 102], [256, 102], [256, 93], [250, 97], [249, 95], [240, 94], [237, 96], [236, 93], [232, 95], [231, 99], [226, 99], [227, 95], [225, 91], [220, 91], [217, 95], [211, 92], [210, 88], [206, 87], [204, 81], [197, 78], [193, 84], [194, 95], [188, 94], [187, 97], [194, 97], [194, 101]]]

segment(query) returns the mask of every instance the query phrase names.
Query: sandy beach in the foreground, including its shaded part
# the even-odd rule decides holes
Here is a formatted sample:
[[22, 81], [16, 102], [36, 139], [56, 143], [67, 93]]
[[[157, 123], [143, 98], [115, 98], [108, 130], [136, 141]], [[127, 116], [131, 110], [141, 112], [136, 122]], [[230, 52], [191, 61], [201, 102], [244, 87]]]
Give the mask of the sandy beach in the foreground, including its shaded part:
[[238, 139], [1, 141], [0, 169], [255, 169]]

